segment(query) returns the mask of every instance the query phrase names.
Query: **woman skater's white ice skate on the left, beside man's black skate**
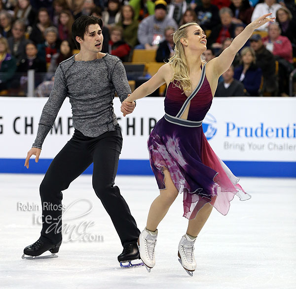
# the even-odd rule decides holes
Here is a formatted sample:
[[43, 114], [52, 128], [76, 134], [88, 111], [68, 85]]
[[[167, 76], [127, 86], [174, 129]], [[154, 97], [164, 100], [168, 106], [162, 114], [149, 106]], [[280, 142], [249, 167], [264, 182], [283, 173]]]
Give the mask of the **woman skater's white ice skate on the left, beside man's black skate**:
[[150, 272], [151, 268], [155, 265], [154, 249], [156, 245], [157, 233], [157, 229], [156, 234], [152, 234], [152, 232], [145, 228], [139, 236], [140, 257], [148, 272]]

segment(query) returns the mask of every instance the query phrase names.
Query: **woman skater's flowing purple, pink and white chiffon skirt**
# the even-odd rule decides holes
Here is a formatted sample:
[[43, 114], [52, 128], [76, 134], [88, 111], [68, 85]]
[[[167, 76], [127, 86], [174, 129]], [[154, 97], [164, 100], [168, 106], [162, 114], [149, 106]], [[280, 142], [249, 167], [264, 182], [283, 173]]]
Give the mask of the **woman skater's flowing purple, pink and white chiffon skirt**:
[[165, 189], [164, 168], [179, 193], [184, 194], [184, 217], [194, 219], [207, 203], [222, 215], [235, 195], [249, 199], [230, 169], [214, 153], [202, 126], [183, 127], [160, 119], [148, 139], [150, 165], [158, 188]]

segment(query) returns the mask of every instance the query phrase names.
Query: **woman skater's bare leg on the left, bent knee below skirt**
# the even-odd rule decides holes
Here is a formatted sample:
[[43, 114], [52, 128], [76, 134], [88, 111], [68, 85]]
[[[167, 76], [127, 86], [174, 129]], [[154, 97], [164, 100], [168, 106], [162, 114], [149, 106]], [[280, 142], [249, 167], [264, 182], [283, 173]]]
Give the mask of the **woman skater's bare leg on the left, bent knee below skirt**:
[[171, 204], [178, 195], [178, 190], [175, 187], [170, 172], [164, 169], [165, 190], [160, 190], [160, 195], [152, 202], [148, 213], [147, 226], [149, 231], [155, 231], [158, 224], [168, 212]]

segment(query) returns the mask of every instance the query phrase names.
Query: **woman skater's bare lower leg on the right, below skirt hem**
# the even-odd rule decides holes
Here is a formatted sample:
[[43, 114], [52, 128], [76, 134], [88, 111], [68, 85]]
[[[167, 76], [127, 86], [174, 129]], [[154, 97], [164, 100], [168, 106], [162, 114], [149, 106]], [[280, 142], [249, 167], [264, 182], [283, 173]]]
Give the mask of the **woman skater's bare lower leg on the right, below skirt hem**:
[[189, 220], [186, 234], [196, 237], [207, 222], [212, 210], [213, 206], [211, 204], [205, 204], [199, 210], [195, 219]]

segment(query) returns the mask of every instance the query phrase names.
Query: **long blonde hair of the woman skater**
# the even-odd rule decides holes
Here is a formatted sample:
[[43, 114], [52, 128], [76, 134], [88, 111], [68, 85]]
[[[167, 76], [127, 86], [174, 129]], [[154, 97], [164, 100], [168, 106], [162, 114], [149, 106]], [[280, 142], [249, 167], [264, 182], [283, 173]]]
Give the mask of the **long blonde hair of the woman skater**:
[[[192, 25], [199, 26], [196, 22], [188, 22], [180, 26], [173, 34], [175, 54], [169, 59], [168, 62], [168, 64], [171, 64], [173, 69], [173, 78], [171, 81], [176, 80], [178, 82], [176, 86], [182, 89], [184, 92], [191, 91], [191, 80], [189, 78], [188, 65], [186, 63], [184, 47], [181, 43], [181, 39], [186, 38], [186, 28]], [[203, 55], [201, 55], [200, 58], [202, 62], [205, 62], [205, 57]]]

